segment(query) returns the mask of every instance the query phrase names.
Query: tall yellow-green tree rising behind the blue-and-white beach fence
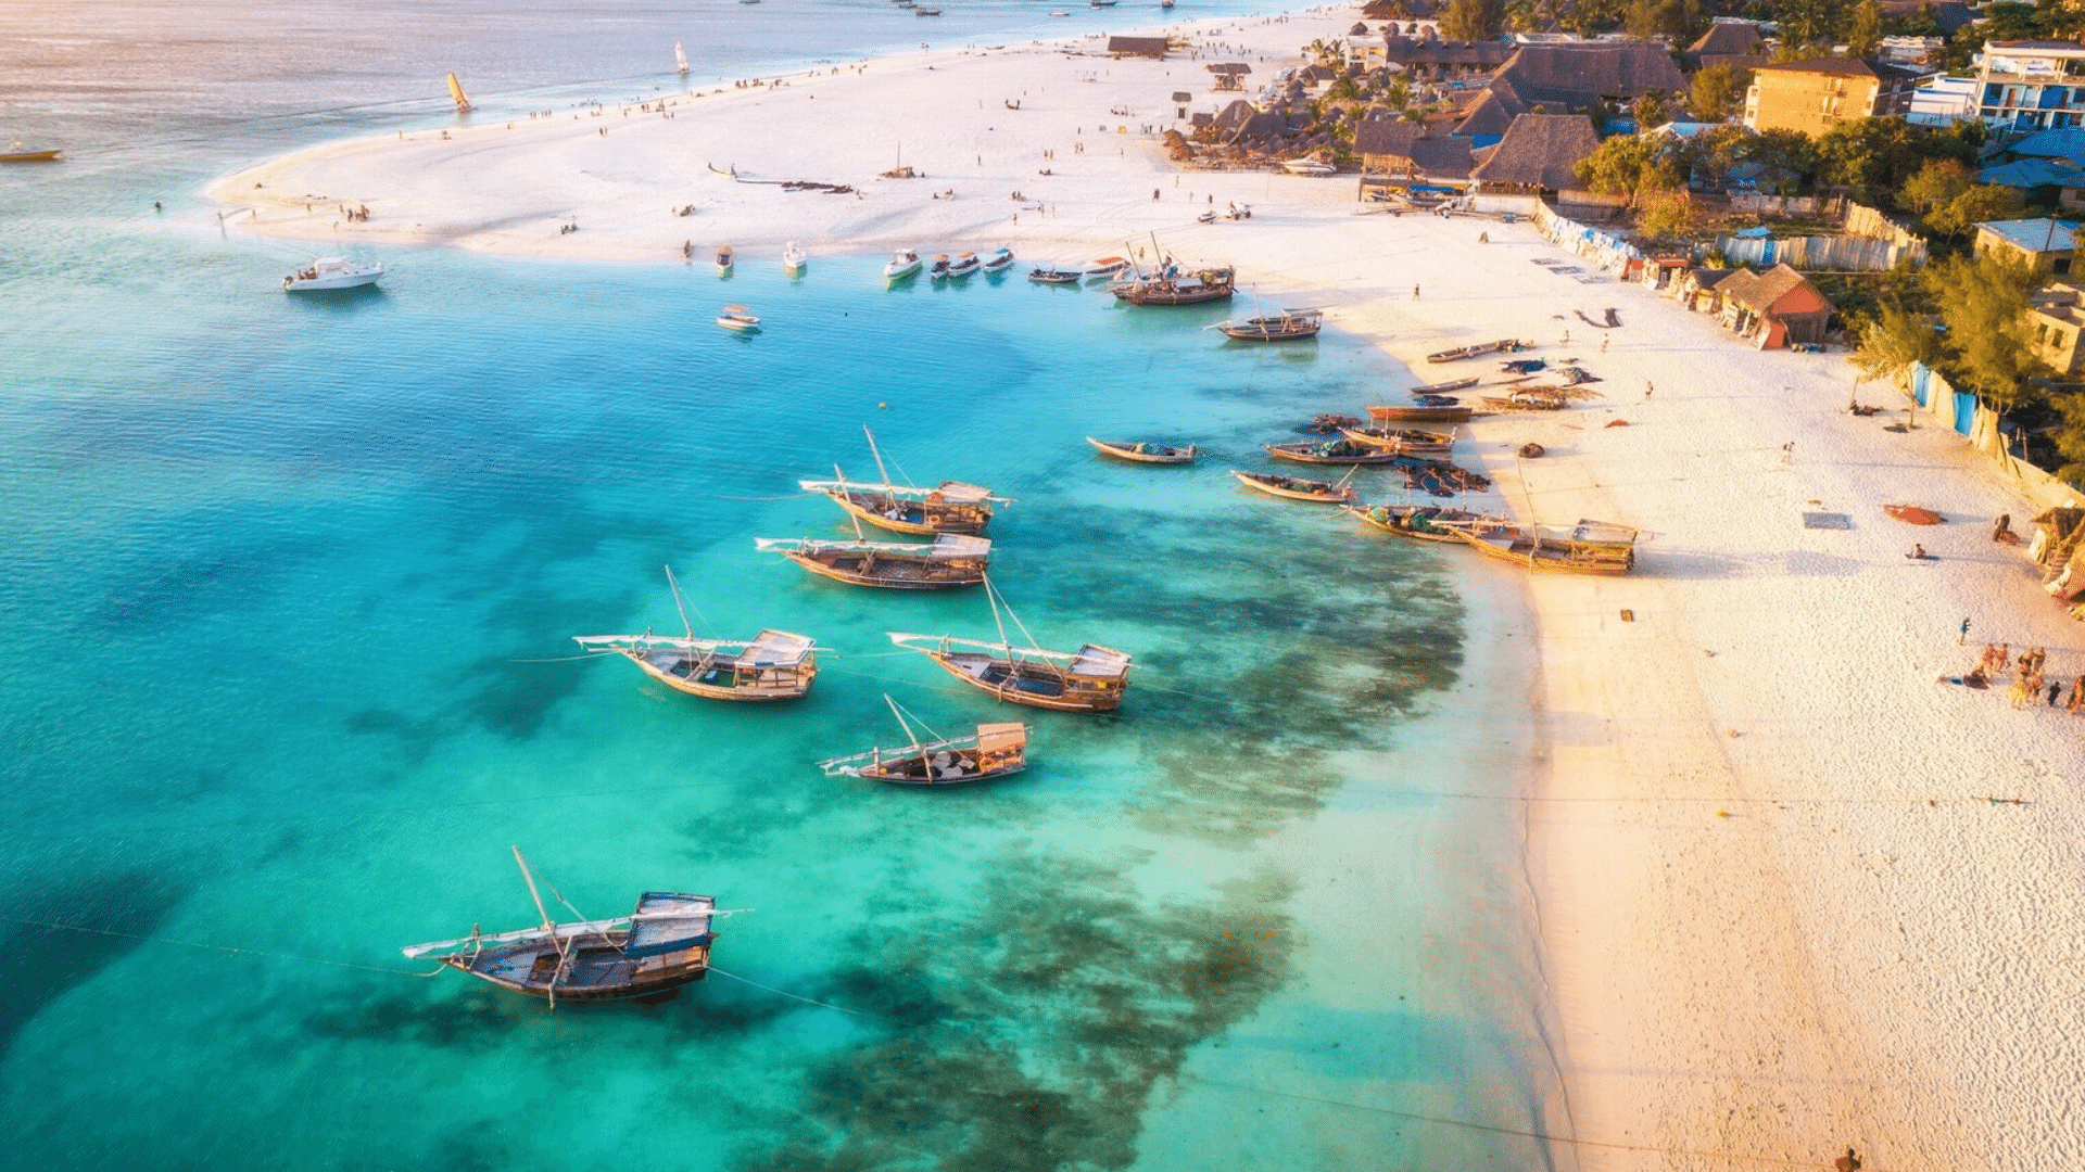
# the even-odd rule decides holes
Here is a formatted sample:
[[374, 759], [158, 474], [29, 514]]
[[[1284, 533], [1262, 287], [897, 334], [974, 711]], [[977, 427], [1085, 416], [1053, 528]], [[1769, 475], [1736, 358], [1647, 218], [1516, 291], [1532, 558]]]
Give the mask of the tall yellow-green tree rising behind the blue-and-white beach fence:
[[2027, 380], [2047, 373], [2029, 338], [2027, 290], [2035, 273], [1997, 257], [1949, 257], [1929, 265], [1927, 292], [1947, 323], [1947, 380], [2012, 411], [2033, 398]]

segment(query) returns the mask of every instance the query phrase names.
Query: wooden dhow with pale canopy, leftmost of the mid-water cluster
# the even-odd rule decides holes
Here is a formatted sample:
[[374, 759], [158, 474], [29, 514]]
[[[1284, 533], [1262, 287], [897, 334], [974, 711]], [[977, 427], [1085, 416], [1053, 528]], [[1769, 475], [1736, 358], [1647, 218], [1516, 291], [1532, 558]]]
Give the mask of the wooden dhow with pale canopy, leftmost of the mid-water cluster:
[[680, 624], [688, 634], [673, 638], [646, 630], [644, 634], [575, 634], [571, 640], [596, 655], [621, 655], [653, 680], [690, 697], [799, 701], [811, 692], [811, 680], [817, 678], [817, 642], [811, 636], [763, 630], [751, 640], [694, 638], [671, 565], [665, 569], [665, 580], [673, 588], [673, 605], [680, 609]]

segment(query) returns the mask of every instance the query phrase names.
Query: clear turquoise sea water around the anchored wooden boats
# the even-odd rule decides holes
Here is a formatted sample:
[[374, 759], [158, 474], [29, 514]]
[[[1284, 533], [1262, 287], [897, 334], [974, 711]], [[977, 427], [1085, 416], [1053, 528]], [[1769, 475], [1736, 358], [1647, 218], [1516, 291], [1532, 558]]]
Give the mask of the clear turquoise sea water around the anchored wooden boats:
[[[79, 154], [0, 171], [6, 1164], [1543, 1162], [1414, 1118], [1555, 1126], [1518, 815], [1470, 797], [1524, 784], [1489, 707], [1522, 672], [1487, 626], [1510, 590], [1224, 475], [1405, 371], [1017, 275], [882, 292], [876, 259], [719, 282], [394, 252], [377, 292], [290, 298], [309, 252], [221, 236], [196, 192], [425, 125], [348, 106], [438, 77], [436, 17], [507, 29], [515, 90], [582, 94], [605, 46], [694, 35], [609, 6], [615, 35], [567, 29], [567, 60], [542, 44], [575, 15], [371, 4], [313, 79], [294, 67], [332, 29], [302, 8], [79, 8], [0, 6], [0, 44], [71, 60], [0, 86], [8, 131], [33, 117]], [[732, 52], [874, 46], [884, 8], [794, 10], [826, 40]], [[173, 48], [85, 31], [177, 10]], [[88, 65], [129, 48], [156, 65]], [[726, 300], [767, 329], [717, 329]], [[849, 590], [753, 548], [847, 532], [794, 480], [869, 473], [861, 423], [915, 480], [1017, 498], [995, 580], [1045, 644], [1136, 655], [1120, 715], [1020, 709], [1036, 763], [997, 786], [811, 767], [897, 736], [882, 692], [940, 730], [1007, 715], [882, 636], [986, 636], [978, 592]], [[1209, 459], [1103, 463], [1086, 434]], [[813, 697], [713, 705], [571, 661], [571, 634], [678, 628], [663, 563], [705, 634], [836, 649]], [[534, 920], [509, 843], [592, 915], [646, 886], [757, 909], [717, 966], [799, 999], [715, 976], [553, 1016], [382, 972]]]

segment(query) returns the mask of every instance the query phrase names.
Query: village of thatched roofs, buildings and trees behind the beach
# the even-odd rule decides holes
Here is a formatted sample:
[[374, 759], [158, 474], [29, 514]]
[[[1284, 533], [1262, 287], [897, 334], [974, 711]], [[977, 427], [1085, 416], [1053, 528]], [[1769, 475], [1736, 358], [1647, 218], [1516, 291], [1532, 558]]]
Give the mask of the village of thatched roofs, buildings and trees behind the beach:
[[1393, 213], [1526, 217], [1737, 346], [1849, 359], [1872, 386], [1849, 411], [1952, 428], [2016, 480], [2022, 515], [1993, 540], [2085, 617], [2085, 13], [1372, 0], [1357, 17], [1264, 79], [1209, 60], [1218, 104], [1168, 136], [1174, 158], [1322, 163]]

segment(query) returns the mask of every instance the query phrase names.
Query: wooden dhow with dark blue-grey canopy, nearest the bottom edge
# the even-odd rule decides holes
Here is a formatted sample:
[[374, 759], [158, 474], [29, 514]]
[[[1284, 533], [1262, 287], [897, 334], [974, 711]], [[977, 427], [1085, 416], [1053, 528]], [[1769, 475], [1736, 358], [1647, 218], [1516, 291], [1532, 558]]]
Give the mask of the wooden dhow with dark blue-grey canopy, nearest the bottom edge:
[[515, 865], [521, 868], [542, 924], [494, 934], [473, 926], [469, 936], [413, 945], [404, 955], [413, 959], [434, 955], [444, 966], [500, 988], [542, 997], [553, 1009], [559, 999], [651, 997], [709, 974], [709, 949], [717, 938], [711, 922], [730, 915], [717, 911], [715, 897], [646, 890], [630, 915], [559, 924], [542, 905], [521, 847], [515, 847]]

